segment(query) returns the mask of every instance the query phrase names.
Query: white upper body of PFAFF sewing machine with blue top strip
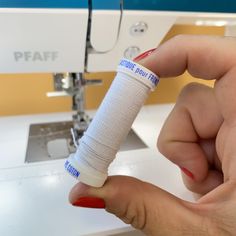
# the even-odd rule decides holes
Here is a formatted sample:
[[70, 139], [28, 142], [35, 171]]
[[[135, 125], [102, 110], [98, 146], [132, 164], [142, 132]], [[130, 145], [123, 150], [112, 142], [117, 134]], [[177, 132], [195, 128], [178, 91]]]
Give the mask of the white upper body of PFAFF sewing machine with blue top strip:
[[176, 23], [225, 25], [232, 34], [234, 10], [233, 1], [212, 9], [206, 1], [0, 1], [0, 73], [114, 71]]

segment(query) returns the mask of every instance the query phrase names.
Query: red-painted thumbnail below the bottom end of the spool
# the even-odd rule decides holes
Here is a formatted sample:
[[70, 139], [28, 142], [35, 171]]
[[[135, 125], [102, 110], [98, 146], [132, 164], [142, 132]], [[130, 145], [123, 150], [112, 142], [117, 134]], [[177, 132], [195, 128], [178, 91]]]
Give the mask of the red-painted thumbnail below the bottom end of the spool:
[[88, 208], [105, 208], [104, 200], [96, 197], [81, 197], [76, 200], [72, 205]]

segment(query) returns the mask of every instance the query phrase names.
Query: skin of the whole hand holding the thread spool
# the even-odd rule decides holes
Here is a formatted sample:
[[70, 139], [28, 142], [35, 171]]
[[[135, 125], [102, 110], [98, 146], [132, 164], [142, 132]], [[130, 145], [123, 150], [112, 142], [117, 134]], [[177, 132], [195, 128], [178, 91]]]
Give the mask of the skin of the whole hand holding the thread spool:
[[70, 202], [102, 198], [108, 212], [147, 235], [236, 235], [236, 39], [177, 36], [139, 63], [161, 78], [187, 70], [216, 80], [214, 88], [192, 83], [183, 89], [157, 141], [164, 156], [191, 173], [183, 172], [183, 181], [202, 197], [190, 203], [138, 179], [112, 176], [102, 188], [78, 183]]

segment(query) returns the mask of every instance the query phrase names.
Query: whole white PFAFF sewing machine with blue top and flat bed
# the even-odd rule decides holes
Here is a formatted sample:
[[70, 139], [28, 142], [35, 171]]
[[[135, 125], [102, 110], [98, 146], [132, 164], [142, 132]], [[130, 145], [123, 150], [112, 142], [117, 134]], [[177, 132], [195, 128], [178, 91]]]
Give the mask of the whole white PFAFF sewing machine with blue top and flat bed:
[[[0, 118], [0, 235], [131, 235], [131, 227], [105, 211], [67, 203], [75, 181], [60, 158], [75, 150], [72, 137], [76, 142], [94, 114], [84, 111], [84, 86], [101, 83], [86, 81], [84, 73], [114, 71], [121, 57], [156, 47], [173, 24], [225, 26], [226, 35], [236, 35], [235, 12], [233, 0], [0, 0], [0, 73], [53, 73], [55, 91], [48, 96], [71, 96], [74, 110]], [[194, 201], [179, 171], [154, 151], [171, 107], [143, 108], [131, 133], [137, 133], [128, 148], [133, 150], [119, 152], [109, 173], [132, 175]]]

